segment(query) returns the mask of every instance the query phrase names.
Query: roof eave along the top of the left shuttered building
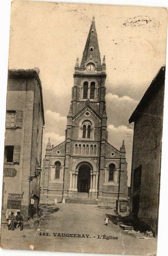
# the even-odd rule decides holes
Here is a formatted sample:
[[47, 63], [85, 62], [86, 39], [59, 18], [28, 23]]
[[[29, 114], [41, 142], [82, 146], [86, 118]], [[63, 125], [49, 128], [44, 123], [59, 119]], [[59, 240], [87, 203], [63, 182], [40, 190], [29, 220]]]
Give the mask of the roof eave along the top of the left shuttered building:
[[36, 79], [39, 82], [40, 86], [40, 94], [41, 94], [41, 105], [42, 105], [42, 116], [43, 116], [43, 125], [44, 122], [44, 107], [43, 107], [43, 94], [42, 94], [42, 85], [41, 80], [37, 74], [37, 71], [35, 69], [8, 69], [8, 78], [33, 78], [36, 77]]

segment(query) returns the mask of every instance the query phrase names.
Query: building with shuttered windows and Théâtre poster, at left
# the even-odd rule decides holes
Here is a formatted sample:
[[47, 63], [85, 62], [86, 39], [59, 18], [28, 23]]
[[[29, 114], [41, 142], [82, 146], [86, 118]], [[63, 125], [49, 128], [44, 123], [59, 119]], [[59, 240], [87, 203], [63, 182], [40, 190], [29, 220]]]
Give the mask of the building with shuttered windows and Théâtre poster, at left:
[[3, 210], [24, 220], [38, 210], [44, 110], [39, 69], [9, 70], [6, 101]]

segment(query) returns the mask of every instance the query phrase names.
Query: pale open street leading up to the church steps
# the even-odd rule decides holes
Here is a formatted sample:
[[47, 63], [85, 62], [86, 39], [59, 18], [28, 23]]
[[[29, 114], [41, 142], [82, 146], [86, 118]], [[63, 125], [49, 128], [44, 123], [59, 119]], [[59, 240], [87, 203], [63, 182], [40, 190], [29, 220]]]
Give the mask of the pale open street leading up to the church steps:
[[56, 207], [60, 210], [49, 215], [45, 230], [8, 231], [6, 224], [2, 224], [1, 246], [43, 251], [156, 254], [156, 238], [139, 239], [125, 234], [111, 221], [108, 226], [104, 225], [106, 214], [114, 214], [113, 210], [86, 204], [57, 204]]

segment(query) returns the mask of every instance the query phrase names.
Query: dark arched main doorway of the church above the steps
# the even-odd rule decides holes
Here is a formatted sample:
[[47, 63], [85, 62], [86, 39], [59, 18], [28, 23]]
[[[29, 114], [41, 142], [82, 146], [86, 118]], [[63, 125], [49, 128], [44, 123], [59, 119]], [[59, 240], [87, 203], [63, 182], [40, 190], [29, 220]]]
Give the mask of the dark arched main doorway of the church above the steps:
[[83, 164], [79, 167], [77, 177], [77, 191], [83, 193], [89, 193], [91, 183], [91, 168]]

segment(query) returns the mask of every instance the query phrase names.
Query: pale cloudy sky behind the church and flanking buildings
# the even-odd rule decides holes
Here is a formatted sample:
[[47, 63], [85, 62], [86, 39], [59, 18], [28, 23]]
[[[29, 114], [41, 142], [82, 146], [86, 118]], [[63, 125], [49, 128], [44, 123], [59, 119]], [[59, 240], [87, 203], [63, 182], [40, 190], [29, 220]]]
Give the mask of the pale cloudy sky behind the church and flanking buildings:
[[9, 69], [40, 69], [45, 129], [43, 155], [50, 137], [65, 140], [76, 57], [82, 53], [92, 16], [101, 61], [106, 56], [108, 142], [120, 149], [125, 140], [130, 184], [133, 124], [128, 120], [166, 57], [164, 8], [12, 3]]

